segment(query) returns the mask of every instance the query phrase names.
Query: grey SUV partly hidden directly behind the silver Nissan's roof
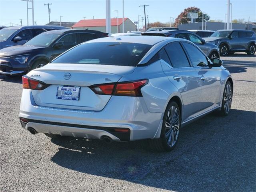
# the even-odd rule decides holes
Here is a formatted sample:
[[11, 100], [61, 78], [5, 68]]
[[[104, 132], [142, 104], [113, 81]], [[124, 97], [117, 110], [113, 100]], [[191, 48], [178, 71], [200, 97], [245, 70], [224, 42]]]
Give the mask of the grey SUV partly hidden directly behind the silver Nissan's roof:
[[220, 58], [218, 46], [212, 43], [205, 42], [205, 40], [200, 38], [200, 36], [187, 30], [159, 30], [144, 32], [141, 35], [165, 36], [186, 39], [196, 44], [211, 60], [212, 58]]

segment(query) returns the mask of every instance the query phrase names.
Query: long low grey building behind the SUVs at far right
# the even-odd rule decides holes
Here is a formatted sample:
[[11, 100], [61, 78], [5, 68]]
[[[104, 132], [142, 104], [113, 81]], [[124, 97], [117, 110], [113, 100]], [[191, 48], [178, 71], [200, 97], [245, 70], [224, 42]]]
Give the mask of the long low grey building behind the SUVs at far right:
[[[186, 23], [186, 24], [179, 24], [178, 28], [180, 30], [202, 30], [202, 22], [195, 22], [195, 23]], [[227, 28], [227, 23], [226, 23]], [[204, 22], [204, 29], [205, 29], [205, 22]], [[223, 22], [206, 22], [206, 30], [221, 30], [224, 29], [224, 23]], [[242, 24], [242, 23], [232, 23], [232, 29], [246, 29], [246, 30], [253, 30], [256, 32], [256, 25], [255, 24]]]

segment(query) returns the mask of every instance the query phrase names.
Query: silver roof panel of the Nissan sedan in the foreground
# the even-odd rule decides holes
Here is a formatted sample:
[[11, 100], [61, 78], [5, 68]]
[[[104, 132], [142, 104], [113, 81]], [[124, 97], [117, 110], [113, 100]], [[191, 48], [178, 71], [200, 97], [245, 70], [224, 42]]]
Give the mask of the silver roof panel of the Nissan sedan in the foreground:
[[119, 36], [119, 37], [105, 37], [98, 38], [94, 40], [90, 40], [84, 43], [92, 43], [92, 42], [126, 42], [126, 43], [138, 43], [138, 44], [148, 44], [154, 45], [158, 42], [168, 40], [170, 42], [180, 40], [178, 38], [170, 38], [170, 37], [162, 37], [162, 36]]

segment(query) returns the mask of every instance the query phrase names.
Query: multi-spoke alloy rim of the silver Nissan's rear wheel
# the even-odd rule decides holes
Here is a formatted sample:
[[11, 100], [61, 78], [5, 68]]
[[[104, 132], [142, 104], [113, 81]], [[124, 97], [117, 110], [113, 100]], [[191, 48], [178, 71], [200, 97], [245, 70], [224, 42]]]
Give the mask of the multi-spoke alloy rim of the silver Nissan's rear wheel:
[[172, 147], [178, 140], [180, 130], [180, 114], [176, 106], [168, 111], [165, 121], [165, 138], [168, 146]]

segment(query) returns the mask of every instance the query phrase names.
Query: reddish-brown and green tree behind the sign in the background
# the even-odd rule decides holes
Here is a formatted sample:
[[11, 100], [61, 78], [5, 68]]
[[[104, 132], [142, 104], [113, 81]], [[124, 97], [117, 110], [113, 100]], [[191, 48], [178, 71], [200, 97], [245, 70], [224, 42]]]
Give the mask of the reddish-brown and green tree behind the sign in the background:
[[[188, 18], [188, 13], [198, 13], [198, 18], [196, 18], [196, 22], [202, 22], [202, 11], [197, 7], [188, 7], [181, 12], [178, 17], [175, 19], [174, 26], [178, 27], [178, 24], [188, 23], [191, 21], [191, 18]], [[204, 13], [204, 21], [205, 19], [210, 20], [210, 16], [207, 13]]]

